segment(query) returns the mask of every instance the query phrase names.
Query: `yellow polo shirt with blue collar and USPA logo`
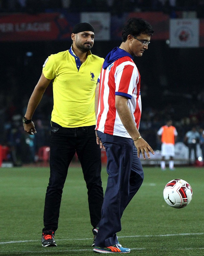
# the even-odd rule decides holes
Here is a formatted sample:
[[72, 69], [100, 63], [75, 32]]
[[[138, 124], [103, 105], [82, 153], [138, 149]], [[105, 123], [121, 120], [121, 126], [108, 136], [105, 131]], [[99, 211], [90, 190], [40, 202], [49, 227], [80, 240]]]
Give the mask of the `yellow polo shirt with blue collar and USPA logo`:
[[68, 128], [96, 124], [95, 89], [103, 61], [89, 51], [81, 64], [72, 47], [45, 60], [43, 74], [53, 80], [53, 122]]

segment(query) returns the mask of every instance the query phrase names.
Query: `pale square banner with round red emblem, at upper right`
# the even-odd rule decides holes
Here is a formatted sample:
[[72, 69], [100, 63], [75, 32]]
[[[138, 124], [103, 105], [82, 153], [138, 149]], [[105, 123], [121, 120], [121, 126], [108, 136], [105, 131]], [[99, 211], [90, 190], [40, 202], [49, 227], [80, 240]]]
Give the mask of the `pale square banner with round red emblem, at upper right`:
[[170, 48], [199, 47], [199, 19], [170, 19]]

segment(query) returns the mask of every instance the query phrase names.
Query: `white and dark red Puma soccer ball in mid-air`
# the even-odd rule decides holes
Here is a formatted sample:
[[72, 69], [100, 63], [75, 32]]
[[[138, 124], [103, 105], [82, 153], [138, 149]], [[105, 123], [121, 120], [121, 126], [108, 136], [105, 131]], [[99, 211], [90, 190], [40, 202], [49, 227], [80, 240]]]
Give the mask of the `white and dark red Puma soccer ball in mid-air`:
[[163, 190], [165, 202], [173, 208], [183, 208], [192, 199], [193, 192], [191, 186], [183, 179], [173, 179], [169, 181]]

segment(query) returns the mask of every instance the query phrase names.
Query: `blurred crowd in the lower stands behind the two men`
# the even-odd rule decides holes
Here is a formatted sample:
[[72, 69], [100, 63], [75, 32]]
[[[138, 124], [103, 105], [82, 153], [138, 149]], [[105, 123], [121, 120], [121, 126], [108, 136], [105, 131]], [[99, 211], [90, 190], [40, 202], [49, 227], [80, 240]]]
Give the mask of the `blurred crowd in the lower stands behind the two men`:
[[[9, 155], [8, 160], [13, 161], [14, 164], [33, 163], [37, 160], [36, 156], [39, 149], [42, 146], [49, 146], [50, 119], [53, 107], [52, 86], [48, 86], [33, 117], [37, 133], [29, 135], [24, 132], [22, 117], [26, 112], [31, 90], [34, 87], [27, 90], [19, 89], [22, 81], [15, 70], [14, 66], [7, 69], [6, 79], [0, 94], [0, 145], [8, 146], [11, 149], [12, 154]], [[140, 134], [155, 151], [161, 149], [156, 132], [166, 124], [166, 119], [169, 117], [172, 118], [173, 125], [178, 132], [177, 142], [183, 142], [186, 132], [191, 130], [193, 126], [202, 134], [204, 128], [204, 92], [197, 96], [194, 95], [194, 100], [191, 98], [184, 101], [186, 107], [188, 105], [188, 111], [185, 112], [187, 114], [184, 116], [182, 108], [185, 108], [185, 105], [182, 101], [180, 108], [173, 103], [167, 103], [166, 107], [160, 108], [156, 104], [147, 103], [151, 96], [146, 90], [148, 89], [145, 89], [145, 85], [142, 84], [143, 110]]]

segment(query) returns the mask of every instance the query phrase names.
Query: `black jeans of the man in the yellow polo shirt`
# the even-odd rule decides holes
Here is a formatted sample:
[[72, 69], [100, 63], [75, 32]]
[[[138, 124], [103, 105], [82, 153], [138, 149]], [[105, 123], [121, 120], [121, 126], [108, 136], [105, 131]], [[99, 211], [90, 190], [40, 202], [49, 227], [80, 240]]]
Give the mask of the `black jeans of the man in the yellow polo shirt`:
[[88, 190], [91, 224], [101, 219], [103, 188], [101, 182], [101, 149], [96, 143], [95, 125], [65, 128], [52, 122], [50, 141], [50, 179], [45, 195], [44, 228], [56, 231], [62, 190], [68, 167], [75, 155], [80, 160]]

